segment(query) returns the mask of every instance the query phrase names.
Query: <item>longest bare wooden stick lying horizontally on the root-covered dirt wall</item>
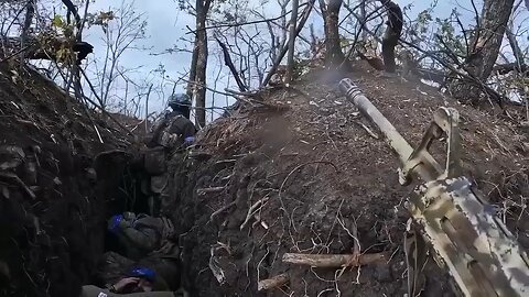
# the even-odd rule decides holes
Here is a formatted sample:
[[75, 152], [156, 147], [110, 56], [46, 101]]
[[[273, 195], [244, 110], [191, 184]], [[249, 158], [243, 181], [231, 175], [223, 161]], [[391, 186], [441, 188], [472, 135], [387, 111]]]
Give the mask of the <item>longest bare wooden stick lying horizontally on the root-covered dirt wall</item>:
[[377, 262], [387, 262], [386, 253], [363, 254], [355, 261], [352, 254], [296, 254], [285, 253], [283, 262], [311, 267], [339, 268], [344, 266], [360, 266]]

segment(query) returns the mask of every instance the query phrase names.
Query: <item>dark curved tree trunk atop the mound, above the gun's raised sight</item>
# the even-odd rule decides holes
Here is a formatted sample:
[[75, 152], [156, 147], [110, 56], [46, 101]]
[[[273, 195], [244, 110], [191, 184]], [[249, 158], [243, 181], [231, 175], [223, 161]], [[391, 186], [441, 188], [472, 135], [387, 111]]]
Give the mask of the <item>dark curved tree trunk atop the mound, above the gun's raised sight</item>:
[[395, 47], [399, 43], [400, 34], [402, 33], [402, 10], [400, 7], [390, 0], [379, 0], [380, 3], [388, 11], [388, 20], [386, 21], [386, 32], [382, 38], [382, 57], [386, 68], [386, 75], [393, 75], [396, 72], [395, 64]]

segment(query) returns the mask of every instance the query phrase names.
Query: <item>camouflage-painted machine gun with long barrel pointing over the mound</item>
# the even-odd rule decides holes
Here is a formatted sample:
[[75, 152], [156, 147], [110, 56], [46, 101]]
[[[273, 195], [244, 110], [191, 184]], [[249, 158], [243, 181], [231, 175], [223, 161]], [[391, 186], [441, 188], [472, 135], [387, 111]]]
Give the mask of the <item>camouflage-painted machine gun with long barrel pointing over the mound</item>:
[[[420, 294], [418, 276], [428, 250], [438, 265], [451, 274], [460, 295], [529, 296], [527, 254], [496, 217], [494, 207], [461, 174], [457, 110], [440, 108], [413, 150], [350, 79], [343, 79], [339, 89], [379, 128], [399, 156], [401, 185], [421, 179], [417, 195], [407, 201], [422, 235], [414, 239], [413, 249], [407, 253], [408, 262], [413, 263], [408, 277], [411, 296]], [[444, 165], [429, 152], [432, 142], [441, 139], [446, 140], [447, 147]]]

